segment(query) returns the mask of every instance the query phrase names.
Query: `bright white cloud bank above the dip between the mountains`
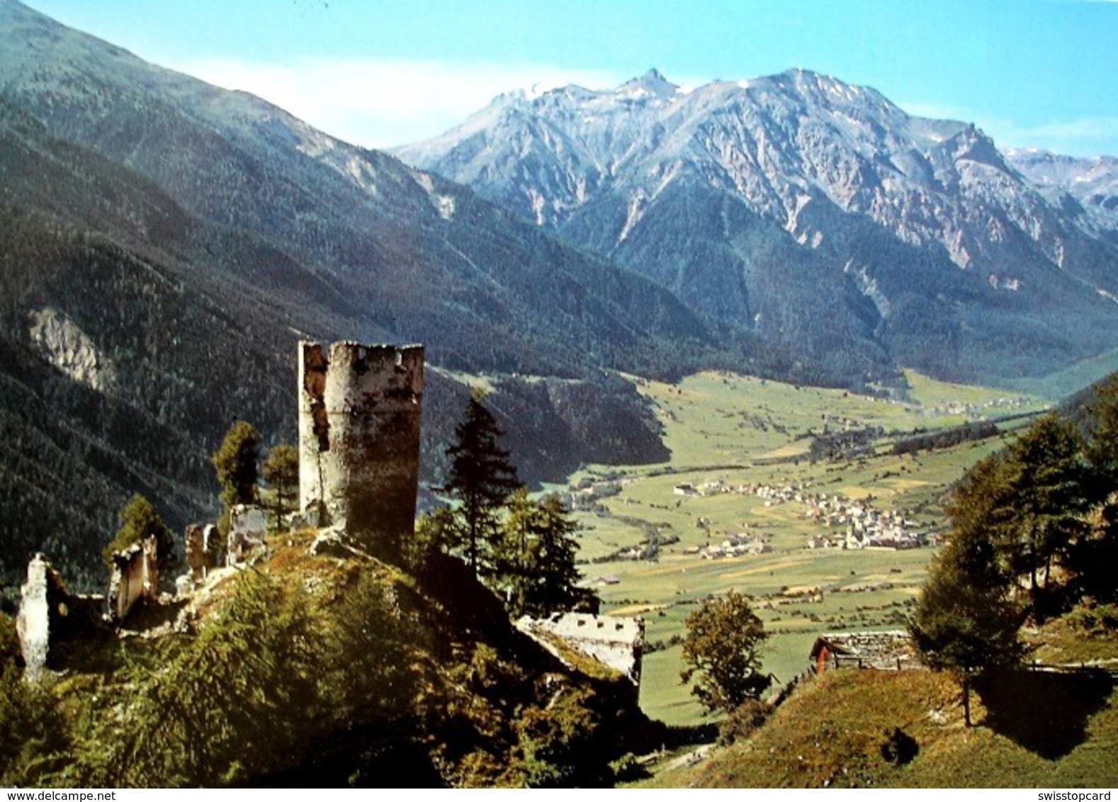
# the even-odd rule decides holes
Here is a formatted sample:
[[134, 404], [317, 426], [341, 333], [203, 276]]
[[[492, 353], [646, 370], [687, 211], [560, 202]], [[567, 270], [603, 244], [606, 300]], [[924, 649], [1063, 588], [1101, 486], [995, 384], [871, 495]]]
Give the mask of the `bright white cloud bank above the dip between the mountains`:
[[243, 89], [332, 136], [388, 148], [443, 133], [515, 88], [615, 86], [607, 70], [549, 65], [448, 64], [411, 59], [300, 58], [268, 64], [219, 58], [169, 65], [227, 89]]

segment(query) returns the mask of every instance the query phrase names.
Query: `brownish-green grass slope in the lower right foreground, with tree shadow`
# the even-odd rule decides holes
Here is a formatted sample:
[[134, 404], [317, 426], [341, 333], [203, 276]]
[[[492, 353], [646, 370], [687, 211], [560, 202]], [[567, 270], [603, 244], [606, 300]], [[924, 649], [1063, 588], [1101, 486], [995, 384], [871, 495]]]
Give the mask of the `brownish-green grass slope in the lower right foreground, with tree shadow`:
[[[1027, 699], [1027, 704], [1022, 704]], [[1112, 682], [1049, 673], [1001, 678], [963, 724], [958, 686], [930, 671], [842, 670], [798, 690], [748, 742], [650, 784], [680, 787], [1107, 787], [1118, 785]], [[882, 754], [900, 728], [916, 756]]]

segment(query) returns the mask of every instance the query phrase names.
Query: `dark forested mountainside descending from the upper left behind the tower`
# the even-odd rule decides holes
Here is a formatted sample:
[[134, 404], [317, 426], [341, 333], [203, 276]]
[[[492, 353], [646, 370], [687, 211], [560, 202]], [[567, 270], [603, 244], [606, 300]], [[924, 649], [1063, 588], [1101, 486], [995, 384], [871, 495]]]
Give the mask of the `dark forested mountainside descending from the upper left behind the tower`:
[[[301, 338], [423, 341], [440, 368], [588, 383], [495, 383], [499, 413], [529, 413], [508, 444], [529, 481], [663, 457], [652, 413], [606, 369], [783, 358], [467, 188], [11, 0], [0, 76], [6, 582], [47, 550], [88, 587], [133, 492], [174, 528], [216, 515], [209, 454], [230, 423], [294, 436]], [[432, 370], [427, 390], [437, 484], [468, 388]]]

